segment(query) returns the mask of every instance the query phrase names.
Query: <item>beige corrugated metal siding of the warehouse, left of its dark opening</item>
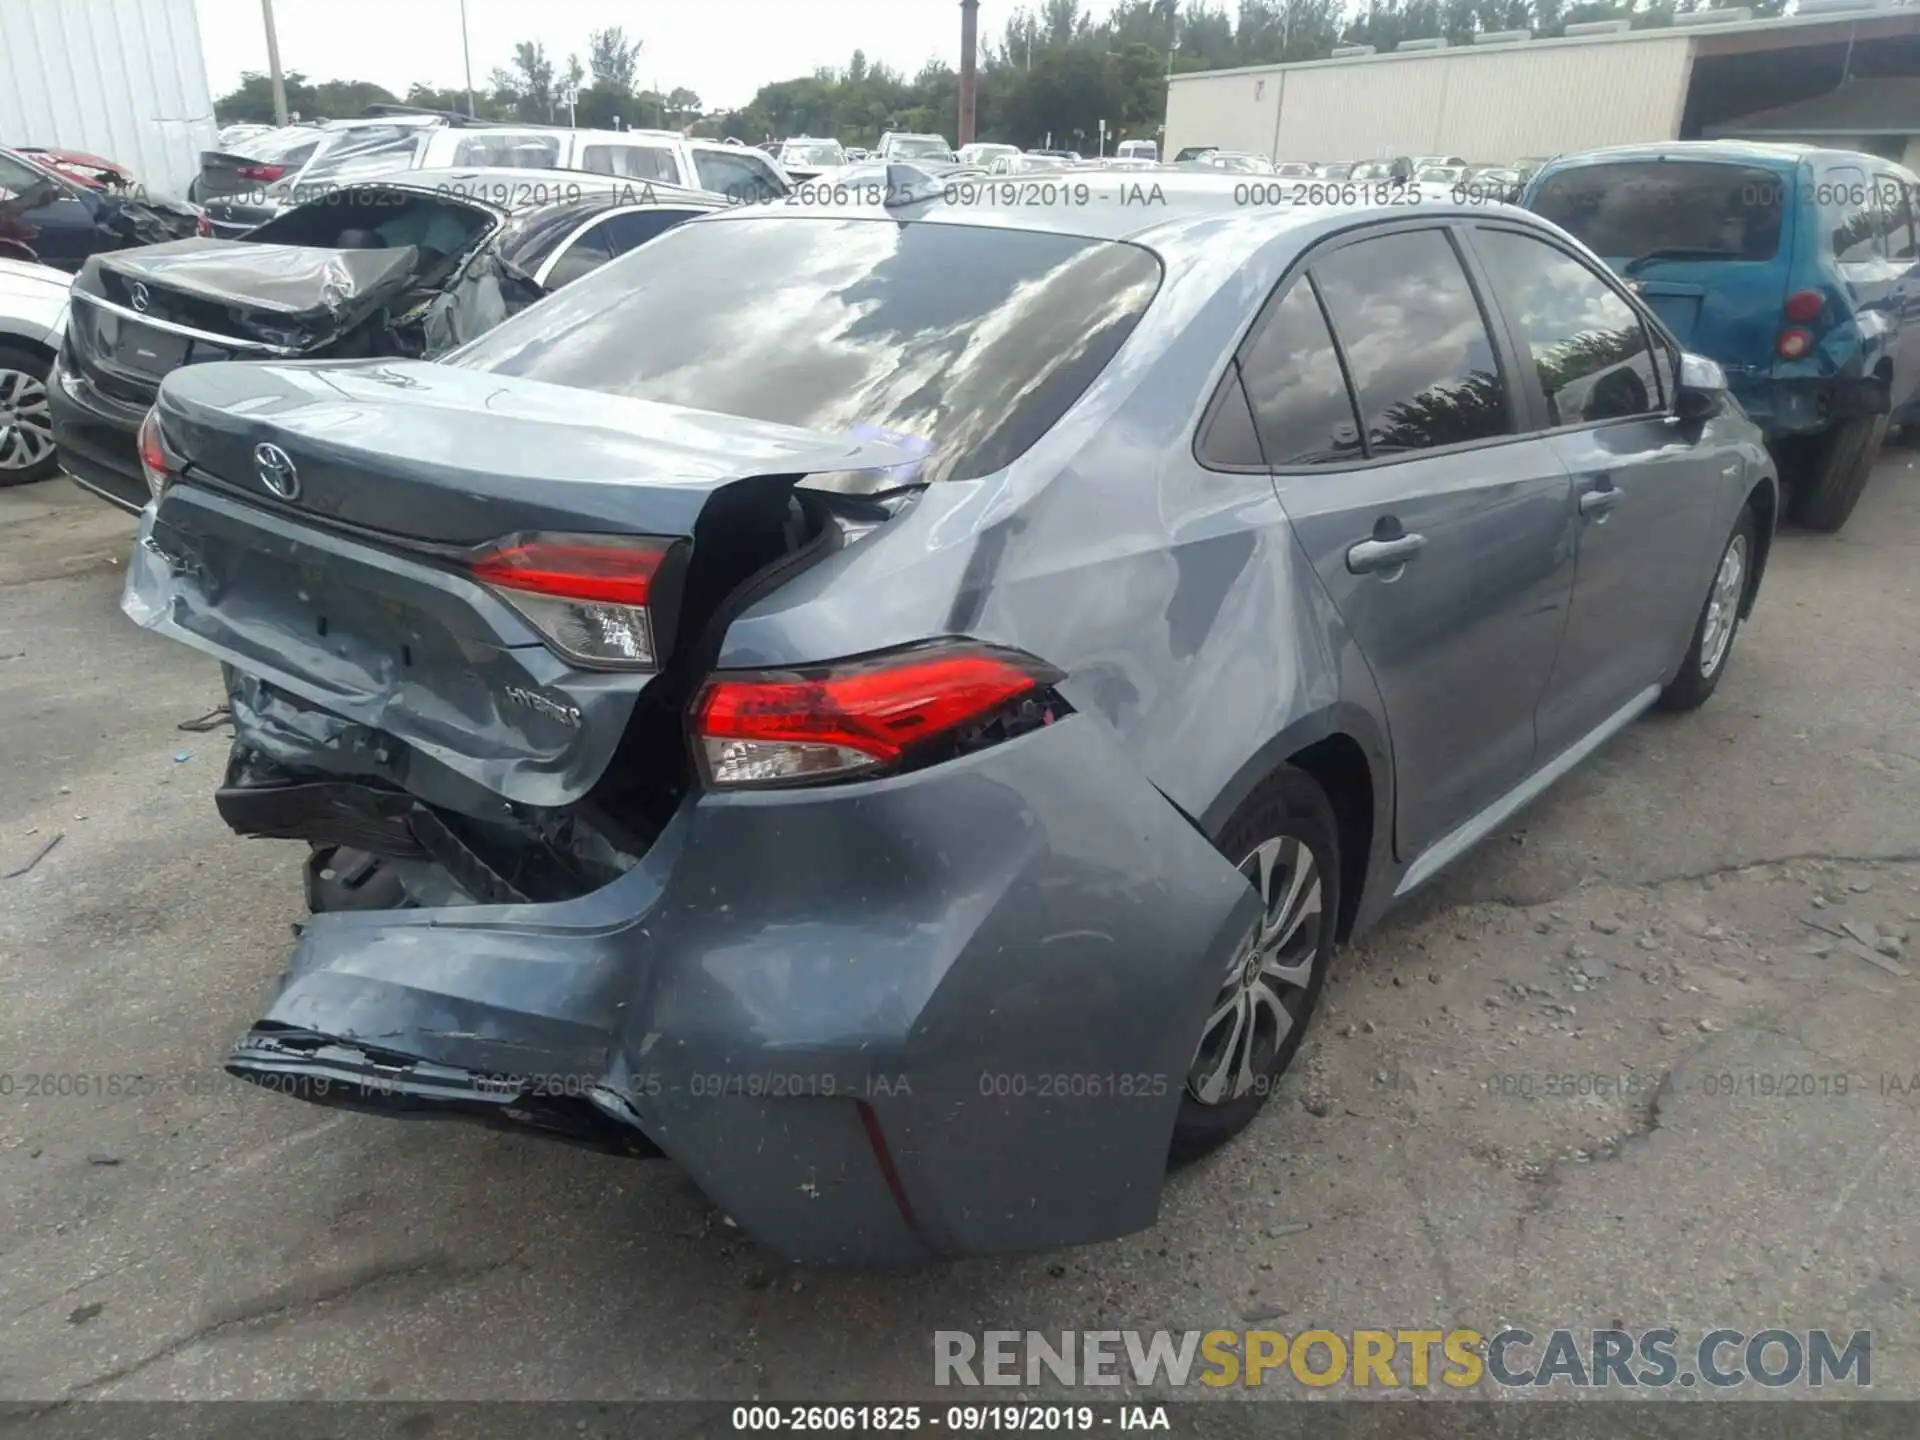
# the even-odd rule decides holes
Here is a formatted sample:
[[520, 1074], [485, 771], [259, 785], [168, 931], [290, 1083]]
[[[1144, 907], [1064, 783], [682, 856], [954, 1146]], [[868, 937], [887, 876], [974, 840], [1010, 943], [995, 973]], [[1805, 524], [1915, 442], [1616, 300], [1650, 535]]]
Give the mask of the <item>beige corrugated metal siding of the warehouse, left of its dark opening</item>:
[[[1275, 159], [1463, 156], [1473, 161], [1670, 140], [1686, 98], [1692, 36], [1619, 44], [1492, 46], [1430, 56], [1296, 65], [1183, 79], [1169, 146], [1219, 144]], [[1261, 115], [1252, 96], [1279, 100]], [[1236, 138], [1215, 131], [1238, 123]]]

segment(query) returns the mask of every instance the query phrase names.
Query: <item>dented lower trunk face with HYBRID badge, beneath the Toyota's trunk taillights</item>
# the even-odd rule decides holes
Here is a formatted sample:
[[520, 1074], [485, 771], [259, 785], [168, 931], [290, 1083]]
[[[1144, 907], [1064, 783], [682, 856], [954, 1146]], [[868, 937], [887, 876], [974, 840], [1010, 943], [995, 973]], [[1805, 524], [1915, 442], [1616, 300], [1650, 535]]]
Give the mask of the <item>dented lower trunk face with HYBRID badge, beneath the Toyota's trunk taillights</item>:
[[647, 684], [568, 666], [449, 568], [192, 484], [142, 516], [121, 607], [321, 707], [255, 699], [276, 758], [382, 776], [467, 812], [478, 810], [472, 785], [518, 804], [578, 801]]

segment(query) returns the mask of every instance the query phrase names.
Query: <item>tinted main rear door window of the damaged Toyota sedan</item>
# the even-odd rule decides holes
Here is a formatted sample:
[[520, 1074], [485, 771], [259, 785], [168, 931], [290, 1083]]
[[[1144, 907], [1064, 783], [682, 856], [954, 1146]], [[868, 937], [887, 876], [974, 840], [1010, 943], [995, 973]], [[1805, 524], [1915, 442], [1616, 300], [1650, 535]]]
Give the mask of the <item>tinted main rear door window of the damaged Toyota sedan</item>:
[[1511, 434], [1494, 340], [1444, 230], [1359, 240], [1311, 275], [1354, 376], [1369, 455]]

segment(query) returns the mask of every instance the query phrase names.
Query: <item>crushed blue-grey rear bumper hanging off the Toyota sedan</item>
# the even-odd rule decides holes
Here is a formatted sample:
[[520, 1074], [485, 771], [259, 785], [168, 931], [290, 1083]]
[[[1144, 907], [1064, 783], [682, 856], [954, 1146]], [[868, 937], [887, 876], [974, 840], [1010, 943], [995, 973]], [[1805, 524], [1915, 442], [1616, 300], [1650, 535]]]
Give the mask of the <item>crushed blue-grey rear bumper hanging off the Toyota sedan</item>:
[[893, 780], [697, 795], [557, 904], [315, 916], [228, 1069], [664, 1152], [793, 1260], [1150, 1225], [1238, 872], [1098, 720]]

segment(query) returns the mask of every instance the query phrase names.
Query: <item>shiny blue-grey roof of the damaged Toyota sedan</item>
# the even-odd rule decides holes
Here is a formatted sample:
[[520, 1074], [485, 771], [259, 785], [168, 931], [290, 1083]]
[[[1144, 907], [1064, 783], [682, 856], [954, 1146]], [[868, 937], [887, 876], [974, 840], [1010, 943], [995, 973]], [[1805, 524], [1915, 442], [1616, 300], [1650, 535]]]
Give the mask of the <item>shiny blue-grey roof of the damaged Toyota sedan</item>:
[[[904, 205], [881, 205], [860, 194], [851, 204], [803, 205], [733, 205], [710, 215], [701, 225], [733, 225], [755, 217], [776, 219], [891, 219], [895, 223], [968, 225], [1006, 230], [1050, 230], [1054, 234], [1085, 236], [1089, 240], [1123, 240], [1144, 246], [1169, 263], [1206, 259], [1233, 261], [1235, 250], [1244, 259], [1284, 230], [1300, 230], [1302, 244], [1342, 225], [1369, 219], [1407, 219], [1407, 207], [1396, 204], [1300, 204], [1281, 198], [1267, 204], [1265, 192], [1248, 204], [1248, 180], [1240, 175], [1202, 175], [1185, 171], [1068, 171], [1054, 180], [1062, 194], [1054, 204], [1035, 202], [1025, 194], [1031, 186], [1014, 186], [998, 179], [960, 180], [929, 186], [929, 200]], [[1432, 186], [1421, 192], [1421, 215], [1501, 215], [1517, 217], [1538, 228], [1551, 225], [1515, 205], [1467, 202], [1455, 204], [1450, 192]], [[1156, 198], [1158, 196], [1158, 198]], [[1221, 221], [1231, 221], [1221, 225]]]

